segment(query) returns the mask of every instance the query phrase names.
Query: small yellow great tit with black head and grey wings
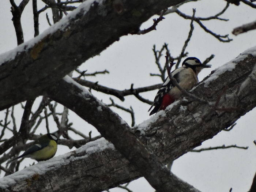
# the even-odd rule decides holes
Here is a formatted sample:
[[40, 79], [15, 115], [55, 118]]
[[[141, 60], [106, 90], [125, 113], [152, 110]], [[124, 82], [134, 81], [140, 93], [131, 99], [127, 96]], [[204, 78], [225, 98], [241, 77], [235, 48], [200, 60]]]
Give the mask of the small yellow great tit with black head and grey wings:
[[29, 147], [22, 155], [15, 157], [8, 161], [6, 164], [14, 161], [15, 159], [21, 157], [30, 157], [37, 161], [45, 161], [52, 158], [56, 151], [58, 145], [58, 138], [52, 133], [47, 133], [38, 139], [38, 142]]

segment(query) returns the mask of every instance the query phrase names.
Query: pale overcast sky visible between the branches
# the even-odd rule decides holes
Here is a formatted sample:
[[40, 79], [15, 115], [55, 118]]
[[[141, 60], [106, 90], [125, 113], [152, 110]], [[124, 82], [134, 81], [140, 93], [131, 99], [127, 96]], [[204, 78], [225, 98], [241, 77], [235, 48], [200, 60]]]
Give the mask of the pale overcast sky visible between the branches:
[[[34, 36], [31, 4], [32, 1], [30, 1], [25, 8], [22, 17], [25, 41]], [[191, 15], [192, 8], [196, 8], [196, 16], [206, 17], [215, 15], [221, 11], [225, 5], [226, 2], [223, 0], [202, 0], [183, 5], [180, 7], [180, 10]], [[8, 0], [1, 2], [0, 53], [4, 53], [16, 47], [16, 36], [11, 21], [12, 15], [10, 7], [11, 5]], [[38, 7], [40, 8], [40, 5], [38, 5]], [[202, 80], [205, 76], [210, 74], [214, 68], [225, 64], [244, 50], [256, 45], [256, 30], [238, 35], [237, 37], [231, 34], [234, 27], [255, 20], [255, 9], [244, 4], [240, 6], [230, 5], [228, 10], [221, 17], [230, 20], [228, 22], [214, 20], [203, 23], [217, 34], [230, 34], [230, 38], [234, 39], [230, 43], [219, 42], [210, 34], [206, 34], [196, 23], [194, 24], [195, 30], [193, 31], [192, 39], [187, 48], [189, 56], [195, 56], [203, 61], [211, 54], [215, 54], [215, 58], [209, 63], [212, 65], [212, 68], [204, 69], [199, 75], [199, 80]], [[88, 72], [108, 69], [110, 74], [98, 75], [87, 79], [95, 82], [98, 81], [99, 84], [121, 90], [128, 89], [131, 83], [134, 83], [134, 87], [160, 83], [160, 78], [151, 77], [149, 75], [150, 72], [158, 72], [157, 65], [154, 64], [153, 45], [155, 44], [157, 48], [160, 49], [163, 43], [166, 42], [169, 44], [172, 55], [177, 56], [181, 52], [181, 48], [187, 38], [190, 23], [189, 20], [185, 20], [175, 13], [166, 15], [165, 18], [166, 19], [159, 23], [156, 31], [152, 31], [146, 35], [128, 35], [121, 37], [120, 41], [115, 42], [112, 46], [103, 51], [100, 56], [86, 61], [81, 65], [80, 69], [88, 69]], [[142, 29], [151, 24], [152, 19], [144, 23]], [[45, 13], [41, 14], [40, 32], [48, 27], [49, 25], [46, 22]], [[153, 100], [156, 92], [157, 90], [142, 95], [143, 97]], [[110, 103], [108, 95], [95, 91], [93, 91], [93, 94], [98, 97], [98, 99], [102, 99], [103, 102]], [[112, 98], [114, 98], [114, 96], [112, 96]], [[127, 108], [132, 105], [135, 110], [136, 124], [149, 118], [147, 110], [150, 106], [138, 102], [133, 96], [126, 97], [125, 102], [121, 102], [116, 98], [114, 99], [116, 103], [124, 105]], [[131, 122], [129, 114], [115, 108], [113, 108], [113, 110], [118, 112], [128, 123]], [[73, 127], [85, 133], [93, 130], [93, 135], [97, 134], [94, 128], [77, 117], [73, 112], [69, 113], [71, 115], [69, 120], [74, 123]], [[3, 115], [4, 113], [0, 112], [0, 119], [4, 117]], [[255, 115], [256, 110], [252, 110], [237, 121], [237, 125], [232, 131], [223, 131], [200, 146], [213, 147], [223, 144], [237, 144], [238, 146], [249, 146], [248, 150], [234, 148], [202, 153], [187, 153], [174, 161], [172, 167], [173, 173], [201, 191], [228, 192], [231, 187], [233, 188], [232, 192], [248, 191], [256, 171], [256, 146], [253, 144], [253, 140], [256, 139]], [[21, 116], [22, 112], [17, 111], [16, 120], [18, 125]], [[44, 125], [38, 130], [38, 134], [40, 132], [46, 132], [43, 126]], [[53, 131], [55, 131], [56, 125], [53, 122], [52, 127]], [[76, 135], [71, 134], [71, 136], [76, 138]], [[56, 155], [64, 154], [67, 151], [67, 147], [59, 146]], [[136, 180], [129, 186], [131, 186], [133, 192], [154, 191], [144, 179]], [[123, 189], [117, 188], [110, 191], [121, 192]]]

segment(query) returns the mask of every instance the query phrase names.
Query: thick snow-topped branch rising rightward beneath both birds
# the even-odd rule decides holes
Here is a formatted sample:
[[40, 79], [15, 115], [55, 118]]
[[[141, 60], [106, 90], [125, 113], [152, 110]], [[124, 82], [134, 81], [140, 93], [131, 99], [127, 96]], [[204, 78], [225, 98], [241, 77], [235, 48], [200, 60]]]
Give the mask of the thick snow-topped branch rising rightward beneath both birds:
[[[256, 78], [254, 74], [256, 74], [256, 69], [254, 70], [253, 67], [256, 58], [250, 53], [253, 53], [253, 49], [242, 53], [223, 67], [217, 68], [204, 82], [192, 90], [193, 94], [214, 100], [223, 90], [223, 82], [225, 82], [228, 87], [231, 87], [226, 91], [229, 97], [226, 101], [220, 101], [220, 104], [237, 105], [238, 103], [240, 105], [238, 110], [216, 112], [214, 109], [208, 108], [207, 104], [187, 98], [173, 103], [166, 109], [166, 112], [158, 112], [154, 117], [133, 128], [142, 143], [146, 144], [161, 162], [168, 163], [187, 153], [204, 140], [217, 135], [220, 130], [228, 128], [246, 112], [255, 108]], [[76, 86], [80, 87], [78, 84]], [[75, 88], [75, 86], [72, 87]], [[67, 94], [66, 90], [72, 92], [66, 88], [59, 87], [58, 94], [65, 95]], [[238, 100], [239, 90], [244, 94], [238, 94]], [[80, 91], [83, 90], [80, 89]], [[73, 94], [77, 96], [81, 93], [80, 91], [73, 92]], [[86, 105], [91, 103], [86, 101], [86, 97], [80, 97], [77, 100], [68, 99], [65, 101], [67, 102], [65, 105], [71, 105], [68, 104], [70, 101], [76, 103], [72, 106], [73, 110], [75, 112], [76, 110], [83, 111], [84, 116], [87, 116], [85, 113], [95, 111], [93, 107], [84, 106], [86, 102]], [[39, 175], [36, 181], [32, 177], [34, 174]], [[52, 186], [49, 182], [45, 182], [49, 180], [49, 175], [51, 182], [54, 183]], [[31, 191], [43, 188], [55, 191], [65, 189], [65, 191], [94, 192], [129, 182], [140, 176], [141, 174], [136, 168], [118, 153], [112, 144], [100, 139], [69, 154], [30, 166], [29, 172], [25, 169], [24, 172], [20, 171], [2, 178], [0, 191], [7, 187], [10, 190], [15, 188], [19, 191], [26, 191], [28, 189], [27, 181], [31, 180], [33, 181], [29, 186]], [[17, 177], [19, 178], [18, 183], [15, 182]], [[61, 182], [60, 177], [62, 178]], [[81, 178], [83, 179], [81, 180]], [[91, 182], [92, 179], [94, 182]]]

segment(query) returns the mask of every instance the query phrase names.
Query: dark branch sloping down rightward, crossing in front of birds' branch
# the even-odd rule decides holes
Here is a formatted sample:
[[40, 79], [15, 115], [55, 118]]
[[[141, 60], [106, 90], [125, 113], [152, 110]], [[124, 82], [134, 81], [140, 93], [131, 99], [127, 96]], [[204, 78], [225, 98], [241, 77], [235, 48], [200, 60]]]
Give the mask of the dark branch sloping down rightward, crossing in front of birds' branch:
[[[118, 114], [98, 101], [82, 86], [78, 86], [72, 78], [65, 76], [57, 87], [57, 89], [49, 91], [48, 96], [59, 103], [65, 103], [65, 106], [96, 127], [104, 138], [112, 142], [115, 148], [137, 167], [139, 172], [157, 191], [186, 192], [190, 189], [198, 191], [170, 173], [162, 163], [157, 161], [155, 155], [139, 141], [128, 124]], [[63, 95], [62, 91], [59, 90], [60, 87], [66, 87], [69, 91], [66, 91], [66, 94]], [[66, 101], [70, 99], [72, 102], [67, 103]], [[79, 106], [75, 106], [74, 104], [78, 101]], [[90, 113], [84, 112], [83, 108], [86, 108]]]

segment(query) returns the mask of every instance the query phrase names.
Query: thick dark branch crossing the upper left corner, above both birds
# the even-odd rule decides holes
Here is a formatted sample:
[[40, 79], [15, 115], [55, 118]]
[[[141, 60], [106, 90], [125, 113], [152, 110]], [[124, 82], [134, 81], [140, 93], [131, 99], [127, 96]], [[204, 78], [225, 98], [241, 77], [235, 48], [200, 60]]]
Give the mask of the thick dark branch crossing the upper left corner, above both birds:
[[[0, 110], [42, 94], [122, 35], [136, 33], [151, 16], [182, 1], [104, 0], [94, 2], [86, 14], [80, 9], [66, 20], [65, 27], [52, 26], [52, 34], [39, 35], [33, 47], [20, 45], [23, 49], [15, 58], [0, 65]], [[88, 1], [80, 6], [85, 4]]]

